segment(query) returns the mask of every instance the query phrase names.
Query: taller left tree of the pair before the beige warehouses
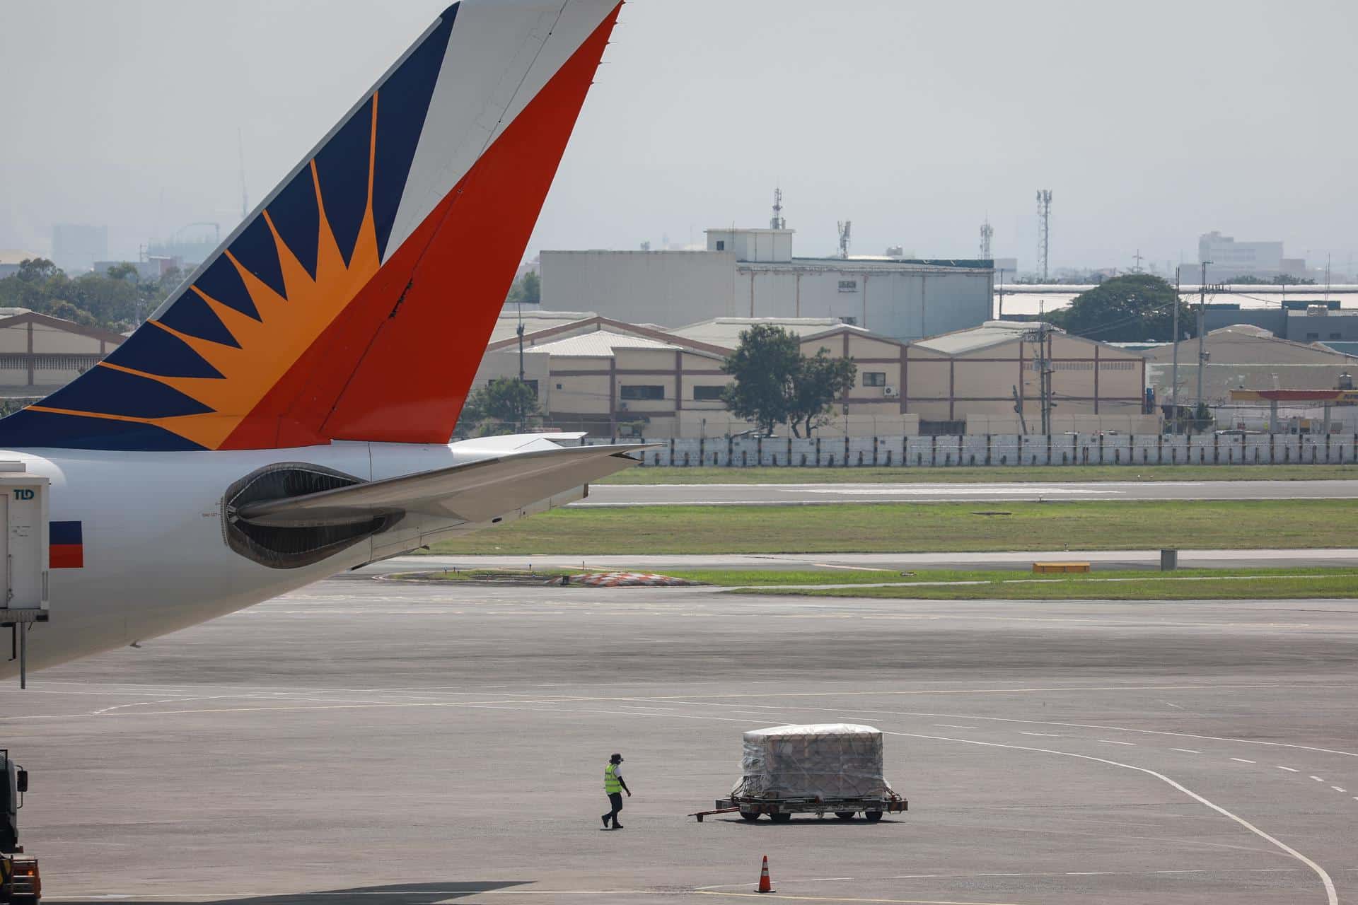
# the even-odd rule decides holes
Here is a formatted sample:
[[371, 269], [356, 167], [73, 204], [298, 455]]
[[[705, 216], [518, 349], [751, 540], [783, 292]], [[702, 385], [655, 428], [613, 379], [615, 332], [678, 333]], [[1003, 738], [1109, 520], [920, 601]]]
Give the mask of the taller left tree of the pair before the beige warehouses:
[[755, 324], [740, 331], [740, 345], [721, 364], [736, 379], [721, 398], [736, 418], [755, 422], [763, 434], [788, 421], [793, 380], [801, 365], [797, 336], [782, 327]]

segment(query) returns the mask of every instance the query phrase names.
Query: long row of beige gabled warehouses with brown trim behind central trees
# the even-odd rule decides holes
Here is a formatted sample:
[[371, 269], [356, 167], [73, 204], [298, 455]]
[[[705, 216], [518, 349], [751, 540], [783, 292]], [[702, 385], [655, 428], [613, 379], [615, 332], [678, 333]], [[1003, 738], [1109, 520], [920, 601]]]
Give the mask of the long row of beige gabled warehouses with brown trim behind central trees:
[[[546, 313], [546, 312], [543, 312]], [[717, 317], [676, 330], [600, 315], [530, 328], [501, 317], [477, 374], [485, 384], [519, 373], [538, 393], [547, 425], [596, 436], [713, 437], [750, 430], [721, 402], [721, 365], [754, 324], [796, 334], [805, 355], [851, 357], [854, 388], [818, 433], [1036, 433], [1042, 389], [1032, 324], [990, 322], [903, 343], [830, 317]], [[547, 323], [543, 319], [542, 323]], [[1145, 361], [1135, 351], [1051, 331], [1052, 430], [1158, 430], [1143, 414]], [[1024, 412], [1014, 411], [1014, 396]]]

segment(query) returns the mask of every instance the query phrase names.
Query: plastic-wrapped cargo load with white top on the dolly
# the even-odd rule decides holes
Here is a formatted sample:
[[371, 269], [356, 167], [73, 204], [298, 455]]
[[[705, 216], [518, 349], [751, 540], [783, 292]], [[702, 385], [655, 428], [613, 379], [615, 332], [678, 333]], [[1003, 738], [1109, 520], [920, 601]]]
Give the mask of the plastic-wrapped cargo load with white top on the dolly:
[[880, 729], [853, 723], [774, 726], [744, 735], [739, 798], [883, 798]]

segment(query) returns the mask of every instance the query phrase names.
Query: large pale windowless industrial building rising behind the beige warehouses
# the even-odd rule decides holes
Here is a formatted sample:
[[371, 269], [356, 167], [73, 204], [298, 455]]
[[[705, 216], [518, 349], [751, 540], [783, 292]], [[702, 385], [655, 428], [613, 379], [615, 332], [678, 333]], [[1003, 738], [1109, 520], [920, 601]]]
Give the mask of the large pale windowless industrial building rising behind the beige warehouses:
[[989, 261], [796, 258], [792, 229], [706, 232], [706, 251], [543, 251], [542, 308], [661, 327], [834, 317], [900, 341], [991, 317]]

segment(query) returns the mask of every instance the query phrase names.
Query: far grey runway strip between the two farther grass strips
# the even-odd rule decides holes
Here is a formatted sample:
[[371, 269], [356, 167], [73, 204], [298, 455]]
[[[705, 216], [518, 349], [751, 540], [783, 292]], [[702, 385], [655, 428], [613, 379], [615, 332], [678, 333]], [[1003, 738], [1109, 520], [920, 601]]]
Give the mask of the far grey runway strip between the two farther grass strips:
[[[1131, 469], [1128, 469], [1131, 471]], [[975, 484], [593, 484], [589, 506], [796, 506], [1059, 499], [1358, 499], [1358, 480], [1127, 480]]]

